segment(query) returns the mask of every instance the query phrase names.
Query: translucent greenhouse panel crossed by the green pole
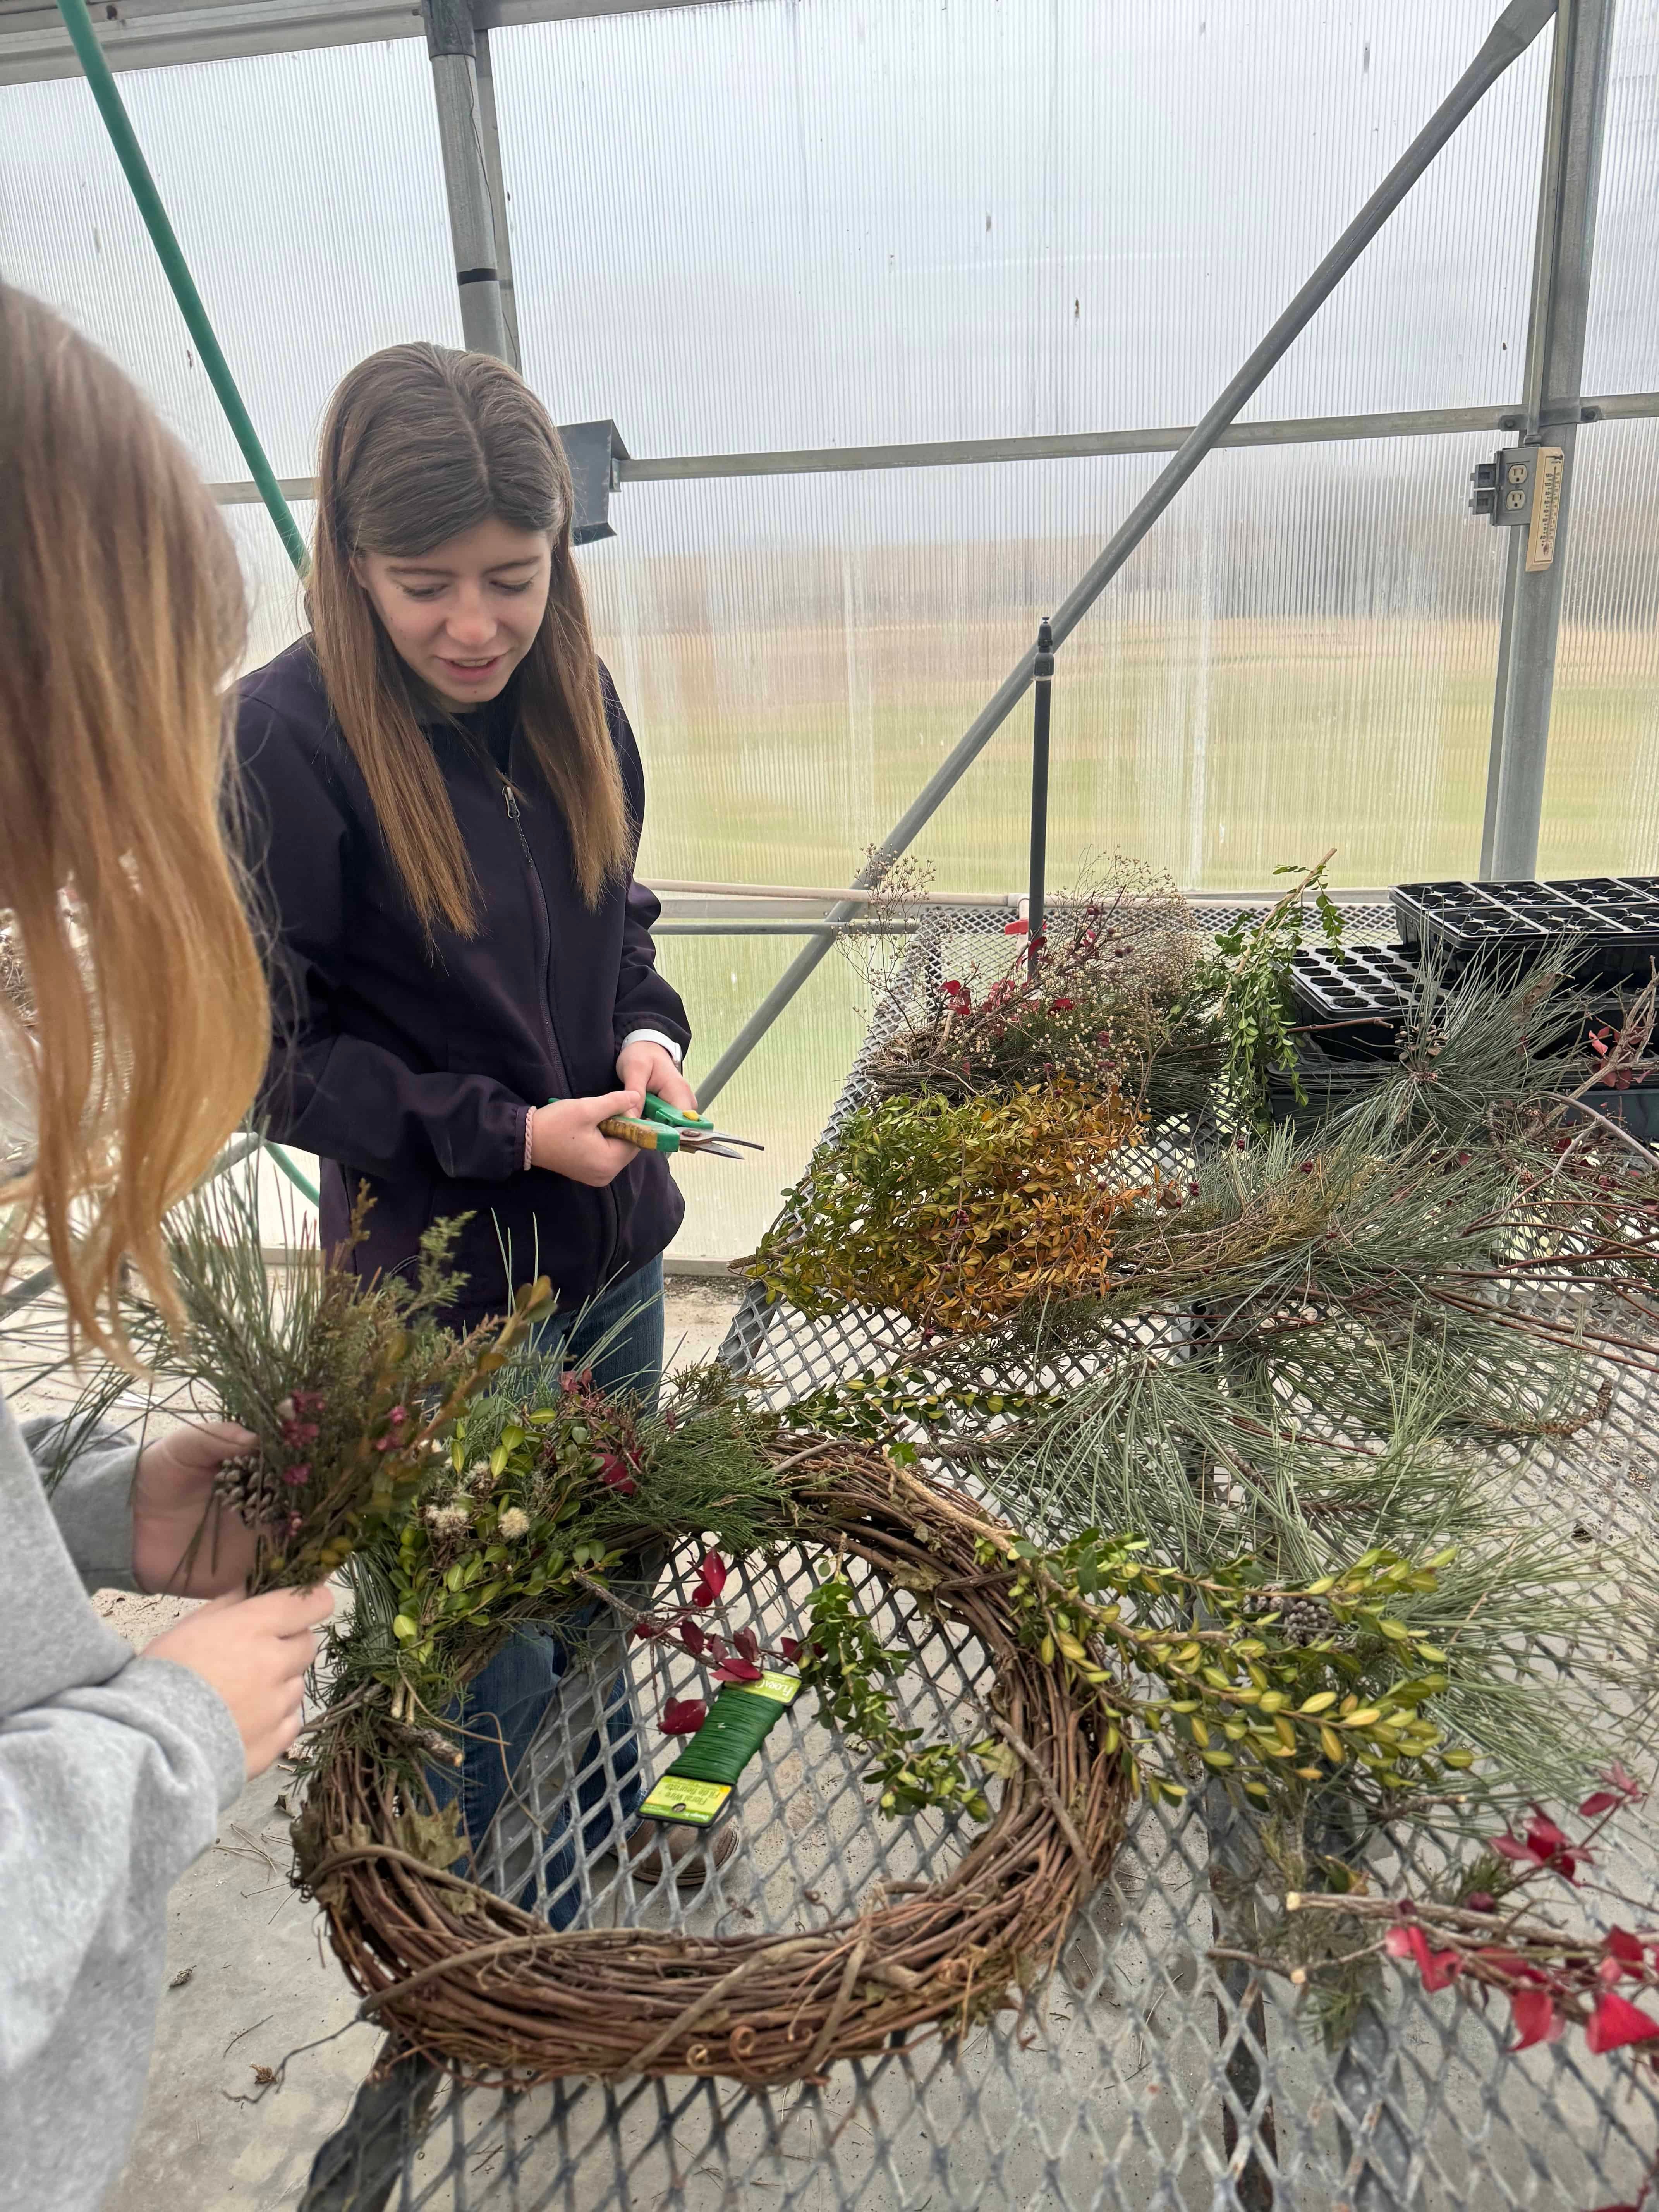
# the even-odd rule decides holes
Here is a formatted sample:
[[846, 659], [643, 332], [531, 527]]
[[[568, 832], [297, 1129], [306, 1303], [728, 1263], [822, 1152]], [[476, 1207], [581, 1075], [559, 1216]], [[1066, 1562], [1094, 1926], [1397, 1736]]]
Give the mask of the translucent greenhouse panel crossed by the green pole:
[[[119, 88], [265, 453], [310, 476], [356, 361], [460, 345], [425, 46], [144, 69]], [[0, 144], [7, 281], [95, 338], [208, 478], [246, 478], [91, 88], [0, 88]]]

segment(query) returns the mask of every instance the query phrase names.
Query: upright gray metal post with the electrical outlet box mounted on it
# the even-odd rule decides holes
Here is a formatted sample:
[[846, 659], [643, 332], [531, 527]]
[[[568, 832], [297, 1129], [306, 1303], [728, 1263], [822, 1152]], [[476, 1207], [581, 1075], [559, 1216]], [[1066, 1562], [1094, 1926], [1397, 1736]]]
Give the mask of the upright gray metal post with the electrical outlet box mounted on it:
[[1531, 533], [1509, 533], [1480, 836], [1480, 874], [1495, 880], [1537, 874], [1610, 46], [1613, 0], [1559, 0], [1517, 445], [1559, 447], [1562, 484], [1548, 566], [1528, 568]]

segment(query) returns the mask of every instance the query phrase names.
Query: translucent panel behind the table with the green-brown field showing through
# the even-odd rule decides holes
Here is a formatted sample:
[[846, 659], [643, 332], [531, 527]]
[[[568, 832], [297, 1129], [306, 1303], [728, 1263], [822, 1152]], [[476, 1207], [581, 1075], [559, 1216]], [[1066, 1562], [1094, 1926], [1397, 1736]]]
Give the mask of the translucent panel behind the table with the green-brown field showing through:
[[[1473, 867], [1502, 557], [1464, 511], [1482, 451], [1203, 465], [1057, 655], [1055, 887], [1113, 849], [1190, 889], [1332, 845], [1338, 883]], [[626, 487], [584, 575], [646, 754], [646, 872], [847, 883], [1155, 469]], [[918, 838], [938, 889], [1024, 880], [1029, 748], [1022, 703]]]

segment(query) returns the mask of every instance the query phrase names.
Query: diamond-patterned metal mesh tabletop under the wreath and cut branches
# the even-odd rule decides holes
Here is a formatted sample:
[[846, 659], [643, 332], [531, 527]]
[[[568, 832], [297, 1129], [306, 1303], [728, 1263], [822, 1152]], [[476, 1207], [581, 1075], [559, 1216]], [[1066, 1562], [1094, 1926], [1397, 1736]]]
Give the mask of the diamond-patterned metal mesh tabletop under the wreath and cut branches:
[[[1385, 936], [1389, 920], [1378, 907], [1349, 914], [1360, 938]], [[973, 938], [1000, 922], [940, 914], [905, 960], [951, 973], [971, 960]], [[863, 1095], [863, 1064], [883, 1029], [878, 1015], [832, 1126]], [[1155, 1139], [1166, 1157], [1190, 1144], [1183, 1128]], [[1141, 1334], [1179, 1329], [1179, 1321], [1155, 1321]], [[810, 1323], [752, 1292], [721, 1356], [783, 1405], [905, 1354], [907, 1334], [883, 1314]], [[1522, 1502], [1548, 1491], [1559, 1509], [1566, 1489], [1582, 1524], [1650, 1546], [1657, 1427], [1641, 1387], [1621, 1378], [1593, 1449], [1575, 1444], [1517, 1471]], [[692, 1579], [690, 1553], [668, 1562], [668, 1593], [686, 1597]], [[752, 1619], [763, 1641], [801, 1632], [807, 1557], [743, 1568], [728, 1597], [739, 1579], [734, 1626]], [[984, 1686], [984, 1652], [867, 1575], [860, 1601], [885, 1641], [918, 1655], [900, 1681], [909, 1723], [960, 1734], [962, 1708]], [[1646, 1657], [1659, 1666], [1659, 1652]], [[653, 1750], [661, 1743], [655, 1717], [664, 1697], [692, 1688], [692, 1674], [661, 1644], [611, 1637], [586, 1652], [584, 1688], [553, 1714], [520, 1803], [487, 1843], [495, 1887], [515, 1893], [542, 1880], [535, 1838], [557, 1829], [573, 1781], [591, 1772], [584, 1750], [604, 1736], [595, 1721], [622, 1697], [624, 1677], [644, 1759], [666, 1765], [672, 1750]], [[619, 1809], [615, 1774], [602, 1774], [602, 1785]], [[967, 1843], [951, 1818], [880, 1820], [858, 1761], [805, 1710], [774, 1728], [748, 1767], [743, 1823], [745, 1849], [723, 1869], [703, 1860], [703, 1882], [690, 1893], [666, 1882], [646, 1891], [617, 1858], [580, 1865], [582, 1918], [695, 1933], [792, 1931], [856, 1913], [880, 1882], [938, 1878]], [[960, 2046], [914, 2039], [880, 2059], [834, 2066], [821, 2086], [564, 2081], [504, 2095], [453, 2086], [405, 2057], [365, 2084], [323, 2146], [303, 2212], [1588, 2212], [1637, 2194], [1659, 2150], [1659, 2097], [1646, 2086], [1615, 2097], [1624, 2077], [1575, 2044], [1511, 2057], [1506, 2008], [1427, 1997], [1416, 1978], [1391, 1978], [1378, 2008], [1332, 2053], [1283, 1982], [1263, 1986], [1248, 1966], [1212, 1964], [1212, 1944], [1248, 1933], [1228, 1885], [1241, 1845], [1232, 1823], [1214, 1790], [1181, 1809], [1141, 1807], [1046, 1993], [973, 2028]], [[1659, 1916], [1650, 1834], [1613, 1847], [1604, 1869], [1615, 1887], [1652, 1896]], [[1400, 1871], [1398, 1863], [1376, 1867], [1385, 1882]]]

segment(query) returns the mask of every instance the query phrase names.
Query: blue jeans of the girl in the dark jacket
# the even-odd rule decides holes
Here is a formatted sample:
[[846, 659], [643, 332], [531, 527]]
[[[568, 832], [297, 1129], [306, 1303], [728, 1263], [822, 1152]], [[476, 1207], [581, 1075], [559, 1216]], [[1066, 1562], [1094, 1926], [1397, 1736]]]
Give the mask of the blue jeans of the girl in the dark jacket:
[[[595, 1352], [606, 1334], [611, 1340]], [[533, 1349], [542, 1356], [562, 1349], [564, 1365], [591, 1365], [593, 1380], [608, 1396], [633, 1391], [641, 1405], [655, 1407], [664, 1356], [661, 1261], [653, 1259], [637, 1274], [615, 1283], [582, 1314], [553, 1314], [538, 1327]], [[595, 1601], [568, 1626], [580, 1637], [602, 1617], [606, 1608]], [[571, 1646], [562, 1637], [549, 1628], [520, 1628], [462, 1692], [456, 1719], [467, 1728], [465, 1763], [460, 1774], [429, 1770], [427, 1781], [440, 1807], [460, 1796], [473, 1849], [484, 1840], [489, 1823], [507, 1798], [568, 1666]], [[599, 1697], [597, 1686], [593, 1694]], [[606, 1750], [602, 1752], [595, 1728], [573, 1770], [582, 1776], [575, 1807], [588, 1816], [582, 1820], [584, 1858], [593, 1858], [613, 1840], [615, 1818], [606, 1803], [613, 1778], [624, 1818], [633, 1818], [639, 1807], [639, 1741], [624, 1674], [604, 1686], [602, 1717]], [[555, 1929], [568, 1927], [582, 1902], [568, 1801], [560, 1805], [538, 1849], [546, 1880], [546, 1918]], [[524, 1911], [538, 1909], [533, 1874], [518, 1902]]]

